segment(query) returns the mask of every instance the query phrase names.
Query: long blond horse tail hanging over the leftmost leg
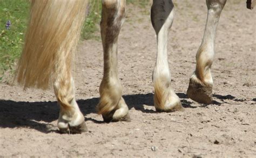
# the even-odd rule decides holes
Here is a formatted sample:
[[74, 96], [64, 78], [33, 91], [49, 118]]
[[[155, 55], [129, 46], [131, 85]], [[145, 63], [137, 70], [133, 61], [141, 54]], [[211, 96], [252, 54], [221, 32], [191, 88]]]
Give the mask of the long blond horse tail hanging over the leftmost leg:
[[15, 77], [24, 88], [49, 88], [63, 67], [71, 69], [86, 4], [87, 0], [31, 1], [30, 21]]

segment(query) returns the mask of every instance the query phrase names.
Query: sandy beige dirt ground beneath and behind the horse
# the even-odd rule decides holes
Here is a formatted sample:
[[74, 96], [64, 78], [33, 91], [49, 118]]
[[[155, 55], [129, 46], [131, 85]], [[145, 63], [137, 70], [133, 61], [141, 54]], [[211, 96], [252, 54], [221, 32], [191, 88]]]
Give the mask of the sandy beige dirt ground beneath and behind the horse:
[[100, 41], [79, 45], [76, 99], [89, 132], [59, 134], [52, 90], [0, 84], [0, 157], [255, 157], [256, 10], [228, 1], [220, 18], [212, 66], [211, 105], [186, 97], [206, 20], [205, 1], [176, 0], [169, 35], [172, 86], [184, 112], [159, 113], [153, 106], [156, 35], [150, 6], [127, 6], [119, 35], [119, 78], [131, 122], [104, 123], [96, 113], [103, 76]]

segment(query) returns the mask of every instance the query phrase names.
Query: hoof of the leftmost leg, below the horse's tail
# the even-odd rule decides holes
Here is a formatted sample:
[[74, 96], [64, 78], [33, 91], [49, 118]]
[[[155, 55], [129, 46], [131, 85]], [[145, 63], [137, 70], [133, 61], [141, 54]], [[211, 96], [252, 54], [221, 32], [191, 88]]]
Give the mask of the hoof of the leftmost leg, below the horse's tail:
[[83, 121], [83, 123], [78, 126], [72, 127], [69, 125], [68, 128], [59, 128], [60, 133], [68, 133], [68, 134], [80, 134], [87, 131], [88, 130], [87, 130], [85, 121]]

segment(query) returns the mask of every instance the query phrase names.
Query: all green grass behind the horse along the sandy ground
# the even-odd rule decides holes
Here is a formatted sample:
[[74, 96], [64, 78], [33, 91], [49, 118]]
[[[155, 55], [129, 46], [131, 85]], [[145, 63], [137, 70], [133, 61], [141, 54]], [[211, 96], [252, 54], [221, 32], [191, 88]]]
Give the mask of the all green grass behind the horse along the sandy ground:
[[[60, 0], [59, 0], [60, 1]], [[81, 33], [83, 39], [99, 40], [99, 21], [101, 18], [102, 4], [99, 0], [89, 0], [89, 14], [84, 22]], [[127, 0], [127, 4], [139, 5], [145, 8], [149, 0]], [[14, 62], [22, 52], [24, 33], [28, 22], [30, 2], [29, 0], [0, 0], [0, 81], [5, 71], [13, 73]], [[6, 30], [6, 21], [11, 21], [9, 30]]]

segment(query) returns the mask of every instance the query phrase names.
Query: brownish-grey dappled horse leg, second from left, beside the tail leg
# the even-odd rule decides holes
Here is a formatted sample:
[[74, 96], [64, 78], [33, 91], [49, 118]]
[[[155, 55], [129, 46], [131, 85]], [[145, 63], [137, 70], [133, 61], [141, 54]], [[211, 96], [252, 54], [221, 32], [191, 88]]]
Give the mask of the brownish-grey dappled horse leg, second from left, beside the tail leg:
[[104, 75], [100, 83], [98, 113], [104, 121], [129, 121], [117, 69], [117, 40], [125, 18], [125, 0], [103, 0], [100, 31], [104, 51]]

